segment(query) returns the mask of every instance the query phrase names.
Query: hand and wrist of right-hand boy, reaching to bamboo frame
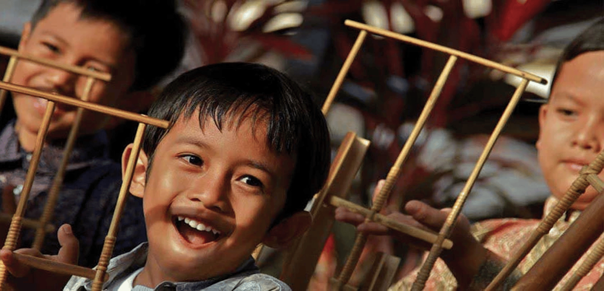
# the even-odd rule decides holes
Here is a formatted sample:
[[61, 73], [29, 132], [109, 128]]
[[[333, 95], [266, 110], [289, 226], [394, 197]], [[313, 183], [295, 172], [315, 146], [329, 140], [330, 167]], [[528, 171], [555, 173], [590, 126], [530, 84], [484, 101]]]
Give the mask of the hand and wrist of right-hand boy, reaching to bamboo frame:
[[[379, 186], [376, 188], [376, 191], [379, 191]], [[406, 203], [405, 211], [408, 215], [394, 212], [388, 214], [388, 217], [419, 228], [439, 231], [451, 209], [439, 210], [419, 201], [410, 201]], [[419, 246], [420, 248], [429, 249], [431, 247], [425, 241], [420, 241], [401, 232], [388, 229], [378, 223], [365, 223], [364, 216], [352, 213], [344, 208], [336, 209], [336, 219], [357, 225], [359, 231], [365, 231], [369, 234], [393, 235], [397, 240]], [[466, 290], [469, 284], [472, 283], [475, 275], [481, 270], [481, 267], [484, 267], [489, 253], [472, 236], [470, 233], [470, 224], [463, 215], [458, 217], [449, 238], [453, 241], [453, 248], [450, 250], [443, 249], [440, 257], [445, 261], [455, 278], [457, 278], [460, 290]]]

